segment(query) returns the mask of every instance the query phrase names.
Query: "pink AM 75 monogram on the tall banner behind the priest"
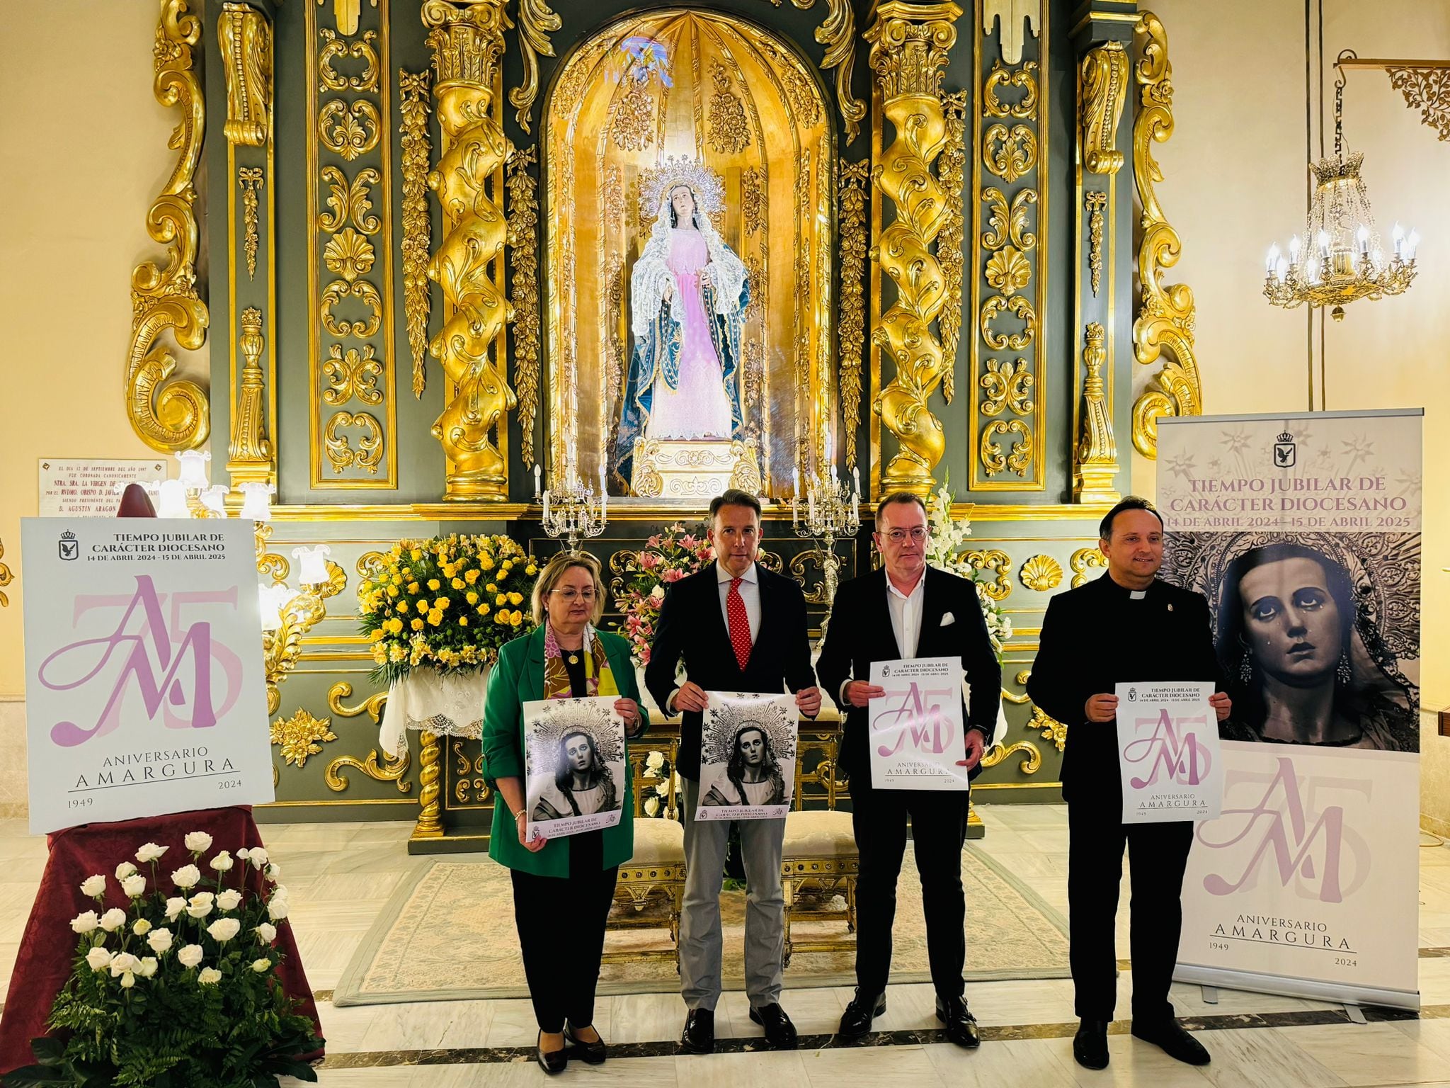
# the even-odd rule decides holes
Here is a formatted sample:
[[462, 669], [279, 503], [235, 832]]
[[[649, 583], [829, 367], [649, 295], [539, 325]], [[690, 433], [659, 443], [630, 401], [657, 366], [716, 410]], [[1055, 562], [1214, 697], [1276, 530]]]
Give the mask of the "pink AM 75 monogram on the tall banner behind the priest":
[[[1235, 786], [1263, 783], [1264, 775], [1231, 773], [1224, 783], [1225, 801]], [[1369, 846], [1346, 821], [1344, 805], [1317, 807], [1320, 792], [1348, 792], [1370, 798], [1370, 783], [1362, 779], [1305, 779], [1301, 788], [1293, 760], [1282, 756], [1277, 770], [1257, 799], [1244, 808], [1224, 808], [1222, 817], [1198, 828], [1198, 840], [1212, 850], [1251, 849], [1237, 878], [1209, 873], [1204, 888], [1211, 895], [1231, 895], [1254, 888], [1260, 872], [1277, 875], [1279, 883], [1293, 885], [1295, 894], [1318, 902], [1343, 902], [1369, 879]], [[1222, 838], [1217, 836], [1222, 834]], [[1273, 865], [1269, 866], [1272, 859]], [[1346, 879], [1346, 862], [1353, 863]]]

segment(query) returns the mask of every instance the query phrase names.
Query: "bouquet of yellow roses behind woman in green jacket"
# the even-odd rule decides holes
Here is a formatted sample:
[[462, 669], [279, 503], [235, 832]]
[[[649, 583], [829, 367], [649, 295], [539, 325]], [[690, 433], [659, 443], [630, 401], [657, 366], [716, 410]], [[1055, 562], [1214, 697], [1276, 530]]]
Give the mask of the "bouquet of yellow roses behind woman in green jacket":
[[358, 615], [380, 685], [415, 667], [474, 672], [534, 627], [538, 566], [509, 537], [400, 540], [368, 574]]

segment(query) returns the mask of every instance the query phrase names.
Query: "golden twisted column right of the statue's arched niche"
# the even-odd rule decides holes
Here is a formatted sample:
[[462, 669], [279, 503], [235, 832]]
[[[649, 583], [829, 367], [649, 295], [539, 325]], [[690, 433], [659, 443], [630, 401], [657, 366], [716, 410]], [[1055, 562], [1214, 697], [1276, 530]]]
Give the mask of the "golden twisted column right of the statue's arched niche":
[[[873, 315], [871, 342], [896, 364], [895, 377], [871, 408], [895, 435], [898, 451], [882, 470], [880, 492], [909, 490], [925, 496], [945, 450], [941, 421], [927, 406], [942, 382], [941, 342], [931, 329], [945, 303], [944, 277], [932, 244], [948, 205], [932, 162], [947, 142], [941, 75], [957, 41], [954, 3], [914, 4], [886, 0], [866, 32], [871, 44], [882, 109], [895, 139], [871, 168], [876, 187], [895, 205], [896, 219], [871, 247], [871, 261], [896, 286], [896, 300]], [[873, 299], [879, 306], [880, 300]]]

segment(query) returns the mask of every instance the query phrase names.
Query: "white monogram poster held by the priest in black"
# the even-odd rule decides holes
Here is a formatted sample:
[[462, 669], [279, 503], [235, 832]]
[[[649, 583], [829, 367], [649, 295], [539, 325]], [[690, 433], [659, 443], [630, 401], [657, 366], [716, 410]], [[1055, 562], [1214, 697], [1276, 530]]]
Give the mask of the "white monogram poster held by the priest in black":
[[1211, 683], [1119, 683], [1122, 823], [1214, 820], [1224, 798]]

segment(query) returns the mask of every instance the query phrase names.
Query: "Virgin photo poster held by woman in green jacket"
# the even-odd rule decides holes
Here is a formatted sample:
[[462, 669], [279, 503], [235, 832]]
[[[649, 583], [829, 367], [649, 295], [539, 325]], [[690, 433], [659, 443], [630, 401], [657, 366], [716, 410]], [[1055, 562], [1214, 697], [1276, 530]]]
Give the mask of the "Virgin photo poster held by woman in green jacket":
[[615, 696], [523, 704], [528, 836], [576, 836], [624, 815], [625, 722]]

